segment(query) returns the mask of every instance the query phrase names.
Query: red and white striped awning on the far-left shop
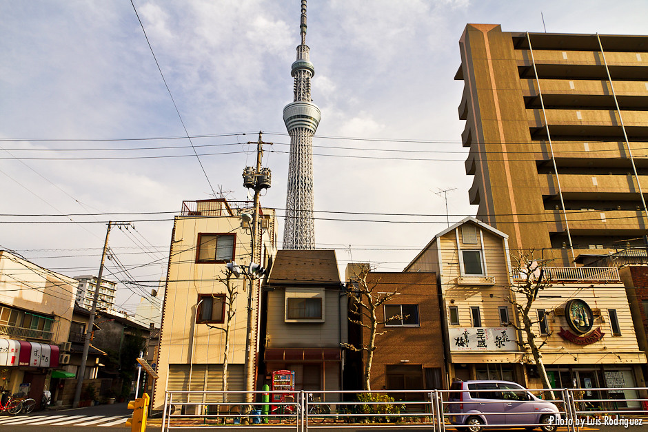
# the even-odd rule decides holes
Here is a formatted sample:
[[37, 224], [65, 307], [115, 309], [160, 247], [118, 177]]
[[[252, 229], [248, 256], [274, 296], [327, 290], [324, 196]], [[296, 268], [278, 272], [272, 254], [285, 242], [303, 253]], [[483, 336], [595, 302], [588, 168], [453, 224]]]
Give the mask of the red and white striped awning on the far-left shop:
[[0, 367], [2, 366], [59, 367], [59, 347], [0, 338]]

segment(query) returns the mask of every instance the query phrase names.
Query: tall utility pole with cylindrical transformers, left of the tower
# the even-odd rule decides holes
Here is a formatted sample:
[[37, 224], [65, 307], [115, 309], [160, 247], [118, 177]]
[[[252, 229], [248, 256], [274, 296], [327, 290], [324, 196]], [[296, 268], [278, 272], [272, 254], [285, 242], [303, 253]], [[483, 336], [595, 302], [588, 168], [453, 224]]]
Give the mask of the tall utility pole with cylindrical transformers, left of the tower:
[[[249, 144], [253, 144], [250, 142]], [[270, 169], [261, 167], [263, 158], [263, 141], [259, 132], [256, 142], [256, 169], [245, 167], [243, 170], [243, 186], [254, 189], [254, 212], [250, 224], [250, 263], [261, 265], [261, 229], [259, 225], [261, 190], [270, 187]], [[245, 341], [245, 389], [254, 391], [256, 381], [256, 344], [259, 338], [259, 279], [250, 273], [250, 291], [247, 292], [247, 340]], [[254, 402], [254, 394], [246, 393], [246, 402]]]

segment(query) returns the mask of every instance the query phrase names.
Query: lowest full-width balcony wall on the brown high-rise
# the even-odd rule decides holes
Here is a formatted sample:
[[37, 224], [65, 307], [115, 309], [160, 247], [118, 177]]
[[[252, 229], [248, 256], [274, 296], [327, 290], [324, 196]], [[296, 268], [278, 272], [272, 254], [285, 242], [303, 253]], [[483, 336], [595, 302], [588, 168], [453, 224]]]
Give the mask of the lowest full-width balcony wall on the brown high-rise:
[[[611, 232], [615, 235], [643, 236], [648, 229], [646, 217], [640, 209], [606, 212], [567, 210], [566, 214], [572, 236], [601, 236]], [[549, 233], [566, 231], [560, 210], [545, 211], [545, 218]]]

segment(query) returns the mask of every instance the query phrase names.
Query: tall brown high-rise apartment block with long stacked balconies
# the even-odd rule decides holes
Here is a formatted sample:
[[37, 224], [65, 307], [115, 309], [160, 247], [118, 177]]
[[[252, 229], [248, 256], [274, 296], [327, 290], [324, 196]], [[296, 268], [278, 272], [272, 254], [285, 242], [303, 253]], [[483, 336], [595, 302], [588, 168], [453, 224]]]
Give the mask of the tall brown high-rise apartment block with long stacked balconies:
[[459, 45], [477, 218], [564, 265], [645, 245], [648, 36], [469, 24]]

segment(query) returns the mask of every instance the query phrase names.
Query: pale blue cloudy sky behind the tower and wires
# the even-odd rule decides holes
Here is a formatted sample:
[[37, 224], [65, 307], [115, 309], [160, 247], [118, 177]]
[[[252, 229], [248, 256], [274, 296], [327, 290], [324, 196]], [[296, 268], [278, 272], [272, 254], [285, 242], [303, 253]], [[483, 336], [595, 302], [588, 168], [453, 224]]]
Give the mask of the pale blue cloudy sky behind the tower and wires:
[[[274, 143], [263, 159], [273, 183], [262, 204], [283, 209], [290, 138], [281, 115], [292, 101], [300, 1], [134, 4], [189, 134], [212, 136], [193, 140], [210, 153], [201, 162], [212, 187], [246, 198], [241, 172], [254, 163], [254, 148], [245, 143], [261, 130]], [[318, 247], [336, 249], [342, 265], [368, 260], [399, 271], [447, 226], [434, 192], [456, 188], [448, 193], [451, 222], [474, 215], [457, 115], [463, 83], [453, 79], [458, 39], [466, 23], [542, 32], [541, 13], [548, 32], [645, 34], [648, 2], [309, 2], [312, 96], [322, 111], [316, 210], [434, 215], [385, 223], [325, 218], [404, 218], [318, 213]], [[1, 214], [179, 212], [183, 200], [210, 197], [186, 138], [50, 141], [185, 134], [130, 1], [0, 1], [0, 16]], [[171, 155], [189, 156], [105, 159]], [[135, 223], [136, 232], [110, 240], [126, 267], [157, 260], [132, 269], [134, 278], [162, 278], [172, 214], [117, 218], [129, 217], [165, 219]], [[68, 276], [96, 273], [105, 224], [12, 223], [43, 219], [0, 216], [1, 247]], [[66, 219], [107, 216], [56, 218]], [[123, 286], [118, 300], [125, 309], [139, 302]]]

